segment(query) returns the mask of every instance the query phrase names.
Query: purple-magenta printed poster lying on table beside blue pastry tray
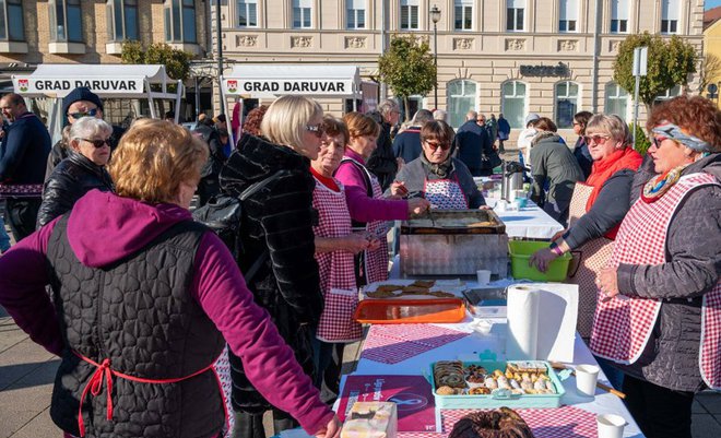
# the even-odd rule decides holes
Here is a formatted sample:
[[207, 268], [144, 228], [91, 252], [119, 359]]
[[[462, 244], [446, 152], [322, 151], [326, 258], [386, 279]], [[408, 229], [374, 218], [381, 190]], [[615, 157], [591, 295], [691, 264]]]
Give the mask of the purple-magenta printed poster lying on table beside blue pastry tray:
[[423, 376], [348, 376], [338, 416], [345, 421], [355, 402], [393, 402], [398, 431], [436, 431], [436, 403]]

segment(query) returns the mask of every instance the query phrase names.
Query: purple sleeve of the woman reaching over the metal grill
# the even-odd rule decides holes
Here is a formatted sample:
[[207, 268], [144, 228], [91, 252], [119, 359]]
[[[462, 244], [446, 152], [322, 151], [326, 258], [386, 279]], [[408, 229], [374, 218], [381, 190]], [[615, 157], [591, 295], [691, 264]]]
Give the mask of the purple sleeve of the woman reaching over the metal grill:
[[342, 163], [335, 173], [335, 178], [345, 186], [345, 201], [354, 221], [403, 221], [409, 218], [407, 201], [369, 198], [366, 180], [361, 171], [355, 165], [346, 162]]

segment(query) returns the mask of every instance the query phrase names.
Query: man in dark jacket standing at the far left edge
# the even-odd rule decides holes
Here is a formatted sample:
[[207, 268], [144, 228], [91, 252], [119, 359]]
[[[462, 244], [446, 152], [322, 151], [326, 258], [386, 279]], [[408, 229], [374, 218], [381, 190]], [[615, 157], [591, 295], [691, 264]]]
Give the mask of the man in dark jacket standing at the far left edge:
[[44, 164], [51, 142], [45, 125], [27, 110], [21, 95], [4, 95], [0, 99], [0, 109], [12, 122], [0, 145], [0, 184], [27, 188], [22, 190], [25, 196], [8, 198], [5, 205], [5, 220], [19, 241], [35, 230], [40, 197], [39, 192], [36, 197], [26, 194], [34, 191], [32, 186], [42, 185], [45, 179]]

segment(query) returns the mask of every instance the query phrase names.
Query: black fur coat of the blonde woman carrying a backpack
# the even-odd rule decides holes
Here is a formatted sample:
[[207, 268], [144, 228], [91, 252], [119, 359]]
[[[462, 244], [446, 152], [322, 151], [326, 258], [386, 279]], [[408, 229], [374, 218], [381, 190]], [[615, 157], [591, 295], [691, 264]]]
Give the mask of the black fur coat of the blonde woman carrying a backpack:
[[[315, 179], [309, 167], [309, 159], [292, 149], [244, 134], [221, 171], [221, 187], [231, 196], [239, 196], [251, 184], [287, 170], [243, 204], [240, 270], [247, 272], [258, 257], [269, 251], [270, 258], [248, 287], [256, 303], [268, 310], [306, 374], [312, 376], [310, 331], [318, 324], [323, 301], [314, 257], [312, 226], [318, 215], [312, 209]], [[243, 363], [233, 354], [231, 365], [234, 409], [265, 411], [268, 402], [252, 388]]]

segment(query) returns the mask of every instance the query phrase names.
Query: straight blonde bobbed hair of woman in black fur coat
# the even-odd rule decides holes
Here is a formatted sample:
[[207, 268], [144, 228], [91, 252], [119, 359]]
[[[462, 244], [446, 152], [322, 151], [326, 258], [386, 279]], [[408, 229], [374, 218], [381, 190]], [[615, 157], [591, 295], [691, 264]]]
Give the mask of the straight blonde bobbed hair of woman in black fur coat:
[[305, 96], [283, 96], [268, 107], [260, 131], [271, 142], [293, 149], [303, 145], [306, 126], [323, 117], [320, 105]]

